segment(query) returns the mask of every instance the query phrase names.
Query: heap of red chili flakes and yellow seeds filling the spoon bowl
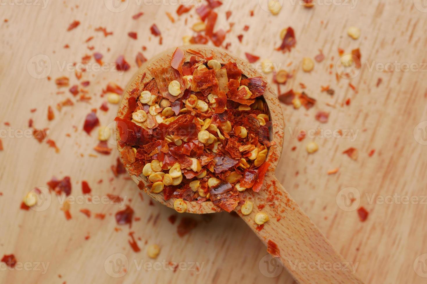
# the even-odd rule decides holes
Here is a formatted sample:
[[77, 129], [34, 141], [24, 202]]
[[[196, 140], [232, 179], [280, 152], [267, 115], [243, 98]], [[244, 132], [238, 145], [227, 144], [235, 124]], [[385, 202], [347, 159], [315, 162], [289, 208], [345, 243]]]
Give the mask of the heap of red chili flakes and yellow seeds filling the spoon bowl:
[[[269, 166], [267, 82], [246, 77], [237, 63], [186, 52], [190, 61], [177, 48], [170, 67], [151, 70], [154, 78], [129, 92], [127, 111], [116, 118], [120, 155], [129, 172], [147, 176], [147, 188], [163, 192], [165, 200], [211, 200], [231, 212], [245, 189], [260, 190]], [[172, 81], [179, 83], [175, 96]], [[150, 101], [142, 103], [146, 91]]]

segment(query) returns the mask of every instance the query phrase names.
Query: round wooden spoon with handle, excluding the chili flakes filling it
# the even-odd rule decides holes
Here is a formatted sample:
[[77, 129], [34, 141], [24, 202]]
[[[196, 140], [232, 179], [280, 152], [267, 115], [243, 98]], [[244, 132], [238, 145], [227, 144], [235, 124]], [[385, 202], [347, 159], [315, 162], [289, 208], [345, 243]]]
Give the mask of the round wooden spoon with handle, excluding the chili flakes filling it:
[[[236, 62], [239, 69], [247, 77], [262, 76], [246, 60], [230, 55], [222, 49], [216, 49], [206, 46], [184, 46], [185, 61], [189, 61], [191, 56], [195, 56], [192, 51], [196, 51], [205, 57], [213, 56], [213, 59], [221, 63], [229, 61]], [[190, 52], [188, 52], [190, 50]], [[135, 77], [126, 87], [126, 92], [120, 104], [118, 112], [119, 117], [123, 117], [128, 108], [128, 98], [135, 88], [141, 87], [144, 83], [152, 79], [152, 69], [169, 67], [172, 54], [175, 49], [163, 52], [141, 66]], [[202, 58], [197, 58], [201, 60]], [[144, 77], [145, 74], [145, 77]], [[141, 78], [143, 78], [141, 82]], [[264, 98], [269, 106], [272, 125], [272, 136], [275, 143], [269, 148], [267, 161], [271, 163], [269, 171], [266, 173], [263, 188], [260, 192], [246, 190], [248, 200], [254, 203], [254, 209], [250, 215], [243, 215], [240, 212], [240, 206], [235, 211], [245, 220], [251, 229], [267, 246], [267, 251], [280, 258], [284, 267], [300, 283], [363, 283], [354, 275], [355, 271], [350, 269], [349, 262], [336, 252], [322, 232], [313, 224], [313, 222], [302, 212], [298, 204], [290, 197], [275, 177], [275, 169], [278, 164], [284, 138], [284, 118], [277, 95], [270, 84], [267, 85]], [[118, 130], [116, 131], [118, 136]], [[117, 144], [120, 155], [123, 148], [120, 143]], [[123, 157], [122, 157], [123, 158]], [[126, 167], [128, 169], [128, 167]], [[128, 169], [129, 170], [129, 169]], [[131, 175], [135, 183], [139, 185], [149, 184], [146, 177]], [[140, 187], [142, 188], [142, 186]], [[157, 200], [167, 207], [173, 208], [174, 198], [164, 200], [163, 194], [151, 193], [144, 190], [150, 197]], [[221, 209], [216, 207], [211, 201], [196, 203], [191, 201], [187, 203], [187, 212], [190, 213], [212, 213], [219, 212]], [[257, 212], [266, 213], [270, 220], [260, 229], [254, 222], [254, 216]], [[257, 229], [258, 228], [258, 229]], [[260, 230], [259, 230], [260, 229]], [[335, 266], [334, 266], [335, 265]], [[335, 268], [334, 268], [335, 267]], [[336, 268], [338, 267], [338, 268]]]

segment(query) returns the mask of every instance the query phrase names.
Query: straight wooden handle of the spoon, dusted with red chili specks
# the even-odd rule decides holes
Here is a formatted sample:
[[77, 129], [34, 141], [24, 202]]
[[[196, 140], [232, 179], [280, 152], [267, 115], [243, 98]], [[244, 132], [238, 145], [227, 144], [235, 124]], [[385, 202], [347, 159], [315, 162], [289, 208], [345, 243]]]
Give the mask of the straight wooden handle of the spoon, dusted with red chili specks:
[[[363, 283], [355, 275], [356, 264], [345, 261], [274, 176], [267, 172], [264, 188], [252, 200], [254, 208], [243, 215], [236, 211], [267, 246], [270, 255], [281, 259], [299, 283]], [[262, 229], [255, 215], [269, 216]], [[262, 226], [262, 225], [261, 225]], [[258, 227], [258, 229], [257, 229]], [[261, 265], [261, 264], [260, 264]]]

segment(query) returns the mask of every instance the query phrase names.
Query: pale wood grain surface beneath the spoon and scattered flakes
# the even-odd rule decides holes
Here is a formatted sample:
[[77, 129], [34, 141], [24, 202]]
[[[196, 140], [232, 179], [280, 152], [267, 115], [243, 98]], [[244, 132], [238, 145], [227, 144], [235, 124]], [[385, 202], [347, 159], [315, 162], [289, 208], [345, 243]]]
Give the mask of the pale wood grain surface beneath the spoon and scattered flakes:
[[[97, 158], [89, 156], [94, 153], [92, 148], [97, 143], [97, 129], [88, 136], [82, 126], [88, 112], [105, 101], [100, 97], [102, 88], [108, 81], [125, 87], [137, 70], [135, 55], [142, 46], [147, 47], [143, 54], [149, 58], [163, 49], [181, 45], [182, 36], [192, 34], [190, 27], [198, 20], [194, 10], [178, 19], [177, 5], [171, 5], [173, 2], [163, 2], [169, 5], [127, 2], [129, 6], [120, 13], [106, 9], [103, 1], [49, 1], [45, 9], [42, 2], [37, 2], [41, 6], [18, 6], [18, 1], [9, 1], [0, 9], [0, 129], [8, 129], [4, 122], [9, 122], [12, 130], [12, 137], [1, 138], [4, 151], [0, 152], [0, 256], [13, 253], [18, 261], [33, 267], [29, 271], [9, 271], [0, 266], [0, 282], [292, 283], [293, 279], [286, 271], [277, 277], [266, 277], [271, 276], [265, 273], [265, 267], [262, 268], [266, 248], [240, 218], [226, 213], [192, 216], [199, 220], [198, 226], [180, 238], [176, 227], [182, 216], [177, 223], [170, 224], [167, 218], [173, 210], [157, 203], [149, 206], [147, 196], [141, 201], [137, 186], [125, 175], [110, 181], [113, 177], [110, 166], [115, 163], [117, 152]], [[348, 261], [358, 265], [357, 273], [364, 281], [424, 283], [426, 278], [422, 276], [427, 276], [422, 270], [426, 259], [423, 254], [427, 253], [424, 218], [427, 206], [423, 196], [426, 195], [427, 146], [423, 144], [427, 141], [423, 140], [426, 125], [417, 124], [427, 120], [427, 68], [423, 64], [427, 62], [427, 14], [416, 8], [422, 7], [419, 5], [421, 1], [415, 0], [414, 5], [412, 1], [359, 0], [355, 6], [354, 2], [330, 4], [322, 1], [313, 9], [286, 1], [277, 16], [263, 11], [258, 1], [224, 2], [216, 9], [219, 13], [216, 29], [228, 29], [225, 11], [232, 10], [228, 22], [235, 25], [225, 40], [225, 43], [231, 43], [229, 50], [240, 56], [251, 52], [272, 60], [281, 68], [295, 70], [282, 92], [290, 88], [302, 91], [299, 83], [304, 83], [307, 86], [304, 91], [317, 99], [316, 106], [309, 111], [283, 106], [285, 123], [291, 129], [285, 129], [284, 150], [276, 169], [279, 181], [335, 248]], [[249, 15], [251, 10], [254, 11], [253, 17]], [[144, 15], [132, 20], [132, 15], [139, 11]], [[170, 23], [166, 11], [175, 17], [174, 24]], [[184, 25], [186, 18], [188, 22]], [[3, 19], [9, 21], [5, 23]], [[81, 21], [81, 25], [66, 32], [73, 20]], [[162, 32], [161, 46], [158, 38], [149, 32], [152, 23], [156, 23]], [[248, 32], [243, 32], [245, 25], [250, 26]], [[114, 34], [105, 38], [102, 33], [94, 32], [99, 26]], [[288, 26], [295, 29], [295, 49], [286, 54], [274, 51], [280, 45], [280, 30]], [[359, 40], [347, 36], [348, 26], [360, 27], [362, 35]], [[127, 33], [131, 31], [138, 33], [137, 40], [128, 37]], [[244, 35], [242, 43], [237, 40], [238, 34]], [[84, 43], [90, 36], [94, 39]], [[65, 44], [69, 44], [70, 49], [64, 49]], [[87, 46], [95, 49], [90, 51]], [[337, 49], [350, 52], [357, 47], [362, 54], [360, 74], [351, 80], [341, 78], [337, 82], [334, 67], [339, 59]], [[323, 50], [326, 60], [316, 63], [313, 72], [302, 72], [302, 58], [313, 58], [319, 53], [318, 49]], [[125, 55], [132, 68], [123, 75], [112, 71], [86, 72], [82, 80], [91, 81], [87, 88], [92, 96], [91, 103], [76, 102], [61, 112], [55, 109], [56, 118], [48, 122], [47, 106], [54, 107], [72, 97], [68, 88], [59, 90], [64, 94], [56, 94], [58, 89], [54, 79], [67, 76], [70, 85], [77, 83], [73, 70], [61, 70], [62, 64], [81, 62], [84, 55], [93, 52], [101, 52], [106, 63], [114, 63], [119, 55]], [[46, 55], [51, 62], [50, 81], [32, 77], [32, 58], [38, 56], [35, 57], [38, 59], [40, 55]], [[414, 63], [413, 66], [421, 70], [369, 70], [372, 63], [381, 66], [395, 62]], [[332, 69], [330, 64], [333, 64]], [[376, 87], [378, 78], [383, 81]], [[356, 86], [357, 93], [348, 86], [349, 82]], [[321, 86], [325, 85], [335, 89], [335, 95], [320, 92]], [[348, 98], [351, 98], [351, 104], [342, 106]], [[72, 100], [76, 101], [75, 98]], [[30, 113], [33, 108], [37, 111]], [[116, 106], [110, 105], [107, 113], [98, 111], [101, 123], [111, 123], [116, 110]], [[330, 112], [328, 123], [320, 124], [314, 119], [318, 110]], [[20, 131], [28, 132], [29, 118], [34, 120], [36, 128], [51, 129], [49, 138], [60, 148], [58, 154], [46, 143], [39, 144], [31, 137], [18, 137]], [[296, 127], [310, 130], [318, 126], [358, 132], [354, 140], [316, 137], [298, 142], [292, 137]], [[71, 137], [67, 137], [67, 133]], [[305, 145], [311, 140], [319, 144], [319, 151], [308, 155]], [[293, 146], [297, 147], [295, 151], [291, 150]], [[349, 147], [359, 150], [357, 161], [342, 154]], [[376, 152], [369, 157], [371, 149]], [[336, 167], [339, 167], [338, 173], [327, 175], [328, 170]], [[127, 198], [127, 204], [135, 209], [135, 216], [141, 218], [132, 224], [132, 231], [136, 238], [140, 238], [137, 242], [142, 251], [135, 253], [131, 250], [128, 227], [120, 227], [119, 232], [114, 230], [118, 227], [114, 214], [122, 208], [120, 205], [72, 204], [73, 218], [69, 221], [65, 220], [61, 204], [54, 195], [44, 211], [20, 210], [26, 192], [46, 186], [53, 175], [58, 178], [70, 175], [73, 196], [81, 196], [80, 184], [86, 180], [92, 187], [92, 195], [113, 193]], [[99, 179], [103, 179], [101, 184], [97, 184]], [[340, 206], [337, 204], [337, 195], [347, 187], [356, 188], [353, 192], [360, 194], [354, 204], [369, 211], [364, 223], [359, 221], [357, 206], [352, 206], [352, 211], [345, 211], [340, 209], [341, 202], [338, 202]], [[370, 202], [373, 194], [397, 197], [388, 202], [391, 204], [381, 204]], [[342, 196], [338, 196], [341, 200]], [[419, 200], [401, 204], [399, 196], [415, 196]], [[107, 216], [104, 220], [93, 216], [88, 219], [79, 212], [82, 208]], [[90, 238], [85, 240], [87, 235]], [[140, 261], [154, 262], [146, 255], [147, 245], [154, 243], [161, 246], [156, 261], [199, 262], [203, 263], [202, 269], [177, 270], [175, 273], [138, 270], [134, 261], [137, 264]], [[104, 269], [104, 264], [108, 265], [111, 260], [109, 257], [113, 255], [114, 261], [116, 253], [123, 253], [129, 261], [126, 275], [120, 278], [111, 277]], [[38, 262], [49, 263], [46, 273], [36, 269], [40, 268], [35, 267]]]

